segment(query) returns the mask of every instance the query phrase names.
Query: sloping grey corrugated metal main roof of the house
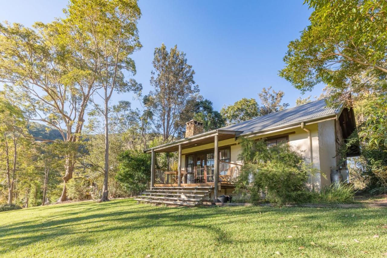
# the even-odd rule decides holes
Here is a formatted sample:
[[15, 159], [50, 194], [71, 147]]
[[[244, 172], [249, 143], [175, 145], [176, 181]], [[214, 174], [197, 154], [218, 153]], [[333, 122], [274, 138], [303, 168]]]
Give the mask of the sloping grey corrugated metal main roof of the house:
[[250, 132], [263, 131], [271, 129], [272, 127], [302, 122], [325, 115], [336, 115], [339, 112], [340, 108], [334, 109], [327, 107], [325, 100], [323, 99], [264, 115], [262, 117], [255, 117], [238, 124], [222, 127], [219, 130], [243, 131], [242, 134], [248, 134]]

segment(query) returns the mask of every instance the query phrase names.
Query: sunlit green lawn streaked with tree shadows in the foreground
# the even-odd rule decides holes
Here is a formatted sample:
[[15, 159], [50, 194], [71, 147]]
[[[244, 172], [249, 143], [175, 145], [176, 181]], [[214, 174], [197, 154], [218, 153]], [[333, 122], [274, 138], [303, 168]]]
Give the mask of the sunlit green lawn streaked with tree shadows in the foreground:
[[0, 256], [381, 257], [387, 255], [386, 224], [382, 208], [88, 201], [0, 213]]

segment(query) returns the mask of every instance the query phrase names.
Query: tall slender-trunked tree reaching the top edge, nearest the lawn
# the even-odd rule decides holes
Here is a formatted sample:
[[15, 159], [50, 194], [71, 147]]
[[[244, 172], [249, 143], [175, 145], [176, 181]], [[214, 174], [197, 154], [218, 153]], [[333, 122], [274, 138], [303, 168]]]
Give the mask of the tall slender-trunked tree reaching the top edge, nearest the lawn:
[[[141, 48], [137, 21], [141, 12], [137, 0], [72, 0], [63, 23], [77, 35], [76, 48], [101, 86], [103, 108], [94, 105], [104, 120], [104, 182], [101, 201], [108, 200], [109, 101], [113, 93], [142, 89], [134, 79], [125, 81], [124, 72], [134, 75], [130, 55]], [[93, 98], [93, 100], [95, 100]], [[98, 101], [95, 101], [98, 103]]]

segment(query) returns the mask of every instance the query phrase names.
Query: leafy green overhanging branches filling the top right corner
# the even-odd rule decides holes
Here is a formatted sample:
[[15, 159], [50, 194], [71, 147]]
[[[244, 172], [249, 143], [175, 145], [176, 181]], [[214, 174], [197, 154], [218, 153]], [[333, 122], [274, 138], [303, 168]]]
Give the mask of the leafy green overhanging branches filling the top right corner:
[[[291, 41], [280, 76], [301, 91], [329, 86], [330, 103], [350, 93], [385, 92], [387, 5], [384, 1], [307, 0], [310, 25]], [[384, 88], [384, 90], [383, 90]]]

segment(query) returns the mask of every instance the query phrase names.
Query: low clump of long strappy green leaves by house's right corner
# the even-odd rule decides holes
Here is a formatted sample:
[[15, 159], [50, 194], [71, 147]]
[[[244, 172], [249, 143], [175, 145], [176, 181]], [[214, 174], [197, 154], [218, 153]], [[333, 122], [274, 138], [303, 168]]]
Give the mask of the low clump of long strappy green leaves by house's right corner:
[[323, 187], [320, 193], [315, 192], [312, 197], [314, 203], [353, 203], [356, 191], [351, 185], [341, 183]]

